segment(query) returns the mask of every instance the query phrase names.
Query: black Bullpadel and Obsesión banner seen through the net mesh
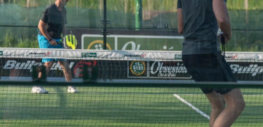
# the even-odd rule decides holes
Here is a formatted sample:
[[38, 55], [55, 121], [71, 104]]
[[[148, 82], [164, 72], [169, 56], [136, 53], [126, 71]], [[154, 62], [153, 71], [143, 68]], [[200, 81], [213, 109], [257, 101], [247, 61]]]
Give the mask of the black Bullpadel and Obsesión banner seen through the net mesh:
[[[0, 58], [1, 77], [31, 77], [33, 66], [43, 66], [42, 59]], [[191, 80], [182, 61], [145, 60], [67, 60], [73, 78], [82, 78], [83, 66], [97, 66], [98, 79]], [[262, 81], [263, 62], [228, 62], [239, 81]], [[106, 69], [103, 69], [106, 68]], [[63, 77], [63, 68], [54, 61], [47, 77]]]

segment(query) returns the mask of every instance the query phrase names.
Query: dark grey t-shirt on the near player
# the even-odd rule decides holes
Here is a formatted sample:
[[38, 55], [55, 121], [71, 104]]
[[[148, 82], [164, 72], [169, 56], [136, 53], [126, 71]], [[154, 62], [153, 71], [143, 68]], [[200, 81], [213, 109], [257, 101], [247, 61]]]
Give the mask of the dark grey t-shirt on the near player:
[[177, 1], [177, 8], [182, 8], [183, 12], [183, 55], [220, 51], [217, 41], [218, 24], [212, 2], [213, 0]]

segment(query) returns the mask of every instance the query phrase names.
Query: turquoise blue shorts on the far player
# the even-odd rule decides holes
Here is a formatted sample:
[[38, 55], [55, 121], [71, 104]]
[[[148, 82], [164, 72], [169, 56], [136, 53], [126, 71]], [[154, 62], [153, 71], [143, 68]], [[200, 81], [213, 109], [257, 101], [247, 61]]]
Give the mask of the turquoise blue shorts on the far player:
[[[61, 39], [61, 38], [60, 38]], [[55, 39], [56, 41], [60, 41], [60, 39]], [[58, 45], [51, 45], [49, 44], [47, 38], [43, 35], [37, 35], [37, 41], [38, 41], [38, 45], [39, 48], [64, 48], [62, 47], [60, 44]], [[42, 62], [45, 63], [47, 61], [53, 61], [54, 59], [50, 59], [50, 58], [42, 58]], [[55, 59], [55, 60], [62, 60], [62, 61], [66, 61], [66, 59]]]

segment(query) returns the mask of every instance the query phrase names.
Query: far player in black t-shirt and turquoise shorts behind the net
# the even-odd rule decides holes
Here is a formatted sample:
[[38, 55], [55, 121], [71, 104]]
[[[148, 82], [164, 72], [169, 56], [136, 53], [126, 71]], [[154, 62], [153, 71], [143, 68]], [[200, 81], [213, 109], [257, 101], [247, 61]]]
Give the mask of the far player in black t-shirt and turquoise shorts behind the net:
[[[66, 31], [66, 8], [64, 5], [69, 0], [56, 0], [55, 3], [49, 5], [41, 16], [38, 23], [39, 33], [37, 35], [38, 45], [40, 48], [63, 48], [60, 44], [57, 44], [61, 39], [61, 33], [65, 34]], [[63, 31], [64, 30], [64, 31]], [[46, 67], [46, 72], [53, 66], [54, 59], [43, 58], [42, 62]], [[69, 64], [65, 59], [56, 59], [60, 66], [63, 68], [63, 73], [67, 81], [72, 80], [71, 70]], [[42, 73], [40, 72], [38, 77], [40, 78]], [[33, 86], [32, 93], [48, 93], [42, 86]], [[68, 92], [77, 92], [75, 86], [68, 86]]]

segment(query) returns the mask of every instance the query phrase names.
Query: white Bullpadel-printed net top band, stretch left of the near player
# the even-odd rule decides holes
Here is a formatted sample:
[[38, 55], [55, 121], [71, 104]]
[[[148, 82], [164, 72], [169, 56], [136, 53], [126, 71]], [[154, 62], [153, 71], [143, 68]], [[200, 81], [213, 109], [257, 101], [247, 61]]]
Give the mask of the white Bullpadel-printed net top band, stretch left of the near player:
[[0, 48], [5, 58], [57, 58], [85, 60], [174, 60], [174, 53], [180, 51], [136, 51], [136, 50], [69, 50], [39, 48]]

